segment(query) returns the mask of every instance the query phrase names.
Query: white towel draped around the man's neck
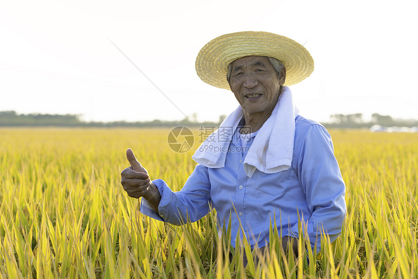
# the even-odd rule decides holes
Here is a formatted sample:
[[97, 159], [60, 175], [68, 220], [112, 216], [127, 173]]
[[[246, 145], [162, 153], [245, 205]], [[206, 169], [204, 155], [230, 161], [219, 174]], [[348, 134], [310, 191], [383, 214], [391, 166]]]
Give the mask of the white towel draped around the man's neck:
[[[290, 168], [298, 114], [290, 88], [284, 87], [271, 116], [261, 126], [244, 159], [248, 177], [252, 177], [256, 169], [275, 174]], [[208, 168], [223, 168], [229, 143], [242, 116], [240, 105], [200, 145], [192, 159]]]

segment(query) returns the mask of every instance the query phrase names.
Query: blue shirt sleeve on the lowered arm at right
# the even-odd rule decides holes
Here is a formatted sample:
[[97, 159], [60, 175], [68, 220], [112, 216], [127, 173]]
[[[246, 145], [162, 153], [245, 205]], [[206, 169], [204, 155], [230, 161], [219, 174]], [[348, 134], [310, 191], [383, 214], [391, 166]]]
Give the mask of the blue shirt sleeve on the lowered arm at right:
[[[331, 242], [341, 234], [347, 212], [346, 186], [334, 156], [331, 135], [323, 126], [314, 124], [307, 128], [299, 152], [299, 183], [312, 212], [306, 228], [311, 245], [316, 241], [319, 251], [321, 232], [328, 234]], [[298, 235], [297, 224], [290, 230], [290, 235]]]

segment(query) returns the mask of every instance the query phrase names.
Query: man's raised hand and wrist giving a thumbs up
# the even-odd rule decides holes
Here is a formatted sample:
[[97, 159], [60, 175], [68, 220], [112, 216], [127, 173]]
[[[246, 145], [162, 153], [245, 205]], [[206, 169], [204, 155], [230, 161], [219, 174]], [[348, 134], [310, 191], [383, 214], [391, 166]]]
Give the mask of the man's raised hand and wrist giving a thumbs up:
[[124, 169], [121, 173], [123, 190], [125, 190], [130, 197], [137, 199], [139, 197], [144, 197], [158, 212], [158, 204], [161, 200], [161, 195], [158, 192], [157, 186], [151, 182], [148, 171], [141, 163], [139, 163], [134, 152], [130, 148], [126, 150], [126, 158], [131, 166]]

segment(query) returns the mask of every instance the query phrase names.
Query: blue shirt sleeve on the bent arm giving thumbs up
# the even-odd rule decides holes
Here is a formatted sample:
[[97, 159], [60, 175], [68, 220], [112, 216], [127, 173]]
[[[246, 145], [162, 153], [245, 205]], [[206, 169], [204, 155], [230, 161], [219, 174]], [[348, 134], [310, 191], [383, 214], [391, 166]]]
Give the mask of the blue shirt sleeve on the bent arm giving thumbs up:
[[209, 173], [205, 166], [196, 165], [179, 192], [173, 192], [162, 179], [153, 180], [153, 183], [161, 195], [158, 213], [142, 199], [140, 212], [144, 215], [179, 226], [199, 220], [211, 209]]

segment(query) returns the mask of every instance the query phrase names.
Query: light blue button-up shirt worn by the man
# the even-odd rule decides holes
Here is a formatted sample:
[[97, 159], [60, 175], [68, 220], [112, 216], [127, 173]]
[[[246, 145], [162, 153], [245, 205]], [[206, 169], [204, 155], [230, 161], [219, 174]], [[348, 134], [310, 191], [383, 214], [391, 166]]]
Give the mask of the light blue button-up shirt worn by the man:
[[270, 224], [275, 221], [282, 236], [298, 237], [299, 216], [312, 247], [316, 241], [319, 251], [322, 231], [331, 241], [341, 233], [347, 210], [345, 184], [328, 131], [301, 116], [295, 122], [290, 169], [276, 174], [256, 170], [251, 178], [247, 177], [243, 162], [254, 135], [243, 149], [237, 129], [229, 144], [225, 167], [196, 165], [179, 192], [173, 192], [161, 179], [154, 180], [161, 194], [159, 215], [145, 199], [141, 213], [180, 225], [186, 220], [197, 221], [214, 208], [220, 226], [228, 226], [231, 219], [234, 247], [240, 241], [235, 239], [238, 230], [244, 230], [251, 247], [264, 246], [269, 242]]

